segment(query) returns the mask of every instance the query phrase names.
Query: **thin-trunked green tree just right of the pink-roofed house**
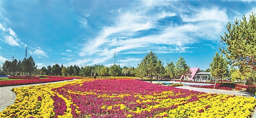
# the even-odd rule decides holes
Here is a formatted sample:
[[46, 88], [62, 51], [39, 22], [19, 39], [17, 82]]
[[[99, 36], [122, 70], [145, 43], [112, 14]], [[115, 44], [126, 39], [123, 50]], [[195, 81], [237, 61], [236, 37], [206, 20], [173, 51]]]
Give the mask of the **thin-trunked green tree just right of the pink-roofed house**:
[[213, 57], [213, 61], [210, 63], [211, 67], [211, 75], [216, 79], [213, 89], [215, 89], [215, 85], [218, 79], [222, 79], [224, 75], [227, 74], [228, 63], [227, 60], [223, 57], [223, 55], [219, 55], [216, 52]]

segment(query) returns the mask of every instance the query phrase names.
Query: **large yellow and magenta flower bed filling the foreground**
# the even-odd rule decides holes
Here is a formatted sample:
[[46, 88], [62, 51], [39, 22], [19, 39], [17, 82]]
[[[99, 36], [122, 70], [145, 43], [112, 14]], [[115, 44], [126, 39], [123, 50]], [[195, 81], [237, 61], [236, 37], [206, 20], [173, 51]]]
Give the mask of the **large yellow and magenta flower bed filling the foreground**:
[[80, 79], [12, 89], [13, 105], [0, 117], [250, 117], [253, 97], [211, 94], [139, 80]]

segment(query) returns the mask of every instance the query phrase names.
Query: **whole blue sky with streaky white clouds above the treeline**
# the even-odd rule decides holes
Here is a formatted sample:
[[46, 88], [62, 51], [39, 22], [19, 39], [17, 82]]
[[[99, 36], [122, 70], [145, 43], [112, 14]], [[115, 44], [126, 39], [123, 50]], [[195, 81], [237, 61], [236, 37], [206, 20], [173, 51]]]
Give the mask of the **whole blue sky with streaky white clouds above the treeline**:
[[[32, 56], [38, 68], [134, 66], [153, 51], [201, 70], [228, 22], [256, 13], [256, 1], [1, 0], [0, 63]], [[224, 45], [225, 46], [225, 45]]]

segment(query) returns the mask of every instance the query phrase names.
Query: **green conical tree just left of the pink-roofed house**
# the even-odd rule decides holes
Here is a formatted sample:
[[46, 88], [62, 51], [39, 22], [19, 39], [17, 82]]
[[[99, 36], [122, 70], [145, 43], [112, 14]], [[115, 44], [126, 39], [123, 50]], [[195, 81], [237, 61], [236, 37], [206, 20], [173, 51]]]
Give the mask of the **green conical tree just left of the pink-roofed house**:
[[179, 60], [175, 62], [175, 76], [180, 77], [180, 84], [181, 84], [181, 76], [187, 75], [189, 73], [189, 66], [186, 64], [186, 61], [183, 57], [180, 57]]

